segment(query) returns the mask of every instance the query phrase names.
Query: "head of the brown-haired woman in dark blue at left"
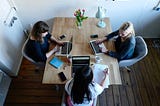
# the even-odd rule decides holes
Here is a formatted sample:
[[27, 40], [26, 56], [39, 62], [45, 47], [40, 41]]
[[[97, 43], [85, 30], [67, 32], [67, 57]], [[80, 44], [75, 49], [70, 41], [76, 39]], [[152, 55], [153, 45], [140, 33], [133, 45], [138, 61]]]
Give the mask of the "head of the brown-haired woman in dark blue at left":
[[42, 42], [43, 34], [48, 31], [49, 26], [43, 21], [38, 21], [32, 28], [31, 36], [33, 36], [35, 40]]

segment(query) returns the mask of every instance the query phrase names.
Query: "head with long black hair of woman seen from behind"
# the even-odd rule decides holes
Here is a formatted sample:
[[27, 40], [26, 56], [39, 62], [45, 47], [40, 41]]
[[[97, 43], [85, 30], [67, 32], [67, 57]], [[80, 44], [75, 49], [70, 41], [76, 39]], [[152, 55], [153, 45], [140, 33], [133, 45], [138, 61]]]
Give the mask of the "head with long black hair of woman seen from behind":
[[92, 84], [93, 72], [88, 66], [82, 70], [76, 70], [74, 75], [73, 87], [71, 90], [71, 97], [74, 103], [81, 104], [84, 99], [84, 95], [87, 95], [88, 101], [91, 98], [91, 92], [89, 90], [89, 84]]

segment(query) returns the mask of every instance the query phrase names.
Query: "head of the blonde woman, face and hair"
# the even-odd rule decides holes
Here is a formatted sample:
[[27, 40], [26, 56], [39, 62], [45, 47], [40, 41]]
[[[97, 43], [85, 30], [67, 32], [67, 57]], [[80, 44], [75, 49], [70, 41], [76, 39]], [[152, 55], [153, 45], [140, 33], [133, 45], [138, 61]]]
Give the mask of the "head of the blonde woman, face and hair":
[[131, 22], [125, 22], [119, 28], [119, 36], [122, 38], [129, 37], [130, 35], [134, 35], [134, 28]]

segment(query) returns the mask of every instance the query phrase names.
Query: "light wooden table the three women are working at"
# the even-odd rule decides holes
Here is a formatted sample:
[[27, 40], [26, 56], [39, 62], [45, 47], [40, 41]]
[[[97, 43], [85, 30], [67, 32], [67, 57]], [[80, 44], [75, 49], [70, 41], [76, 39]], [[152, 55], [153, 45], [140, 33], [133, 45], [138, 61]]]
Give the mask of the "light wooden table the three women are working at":
[[[75, 24], [75, 18], [56, 17], [53, 21], [52, 35], [58, 38], [60, 35], [65, 34], [67, 36], [64, 40], [70, 40], [71, 36], [73, 36], [71, 55], [89, 55], [91, 57], [91, 64], [94, 64], [95, 56], [93, 55], [93, 52], [89, 46], [89, 41], [93, 40], [93, 38], [91, 39], [90, 35], [98, 34], [98, 38], [102, 38], [111, 32], [109, 18], [104, 19], [107, 25], [105, 28], [97, 27], [96, 24], [98, 21], [99, 20], [96, 18], [88, 18], [87, 20], [83, 21], [81, 29], [78, 29]], [[104, 44], [109, 50], [115, 50], [113, 41], [108, 41]], [[47, 59], [42, 83], [65, 84], [66, 81], [62, 82], [58, 77], [58, 73], [63, 71], [67, 79], [71, 79], [71, 64], [68, 62], [66, 57], [60, 57], [65, 62], [65, 64], [60, 69], [55, 69], [48, 63], [53, 58], [53, 56]], [[121, 84], [117, 59], [105, 54], [100, 56], [103, 58], [101, 63], [107, 64], [109, 66], [110, 84]]]

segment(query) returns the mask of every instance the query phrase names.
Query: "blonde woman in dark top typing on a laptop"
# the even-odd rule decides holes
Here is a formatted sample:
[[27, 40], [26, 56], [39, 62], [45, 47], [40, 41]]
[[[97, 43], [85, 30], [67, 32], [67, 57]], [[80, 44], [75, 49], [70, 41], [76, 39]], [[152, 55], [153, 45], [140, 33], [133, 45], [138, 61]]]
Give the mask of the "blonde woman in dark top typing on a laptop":
[[131, 58], [136, 45], [134, 28], [131, 22], [125, 22], [119, 30], [110, 33], [103, 39], [97, 40], [97, 43], [108, 41], [117, 35], [118, 37], [115, 41], [116, 52], [107, 50], [104, 53], [117, 58], [119, 61]]

